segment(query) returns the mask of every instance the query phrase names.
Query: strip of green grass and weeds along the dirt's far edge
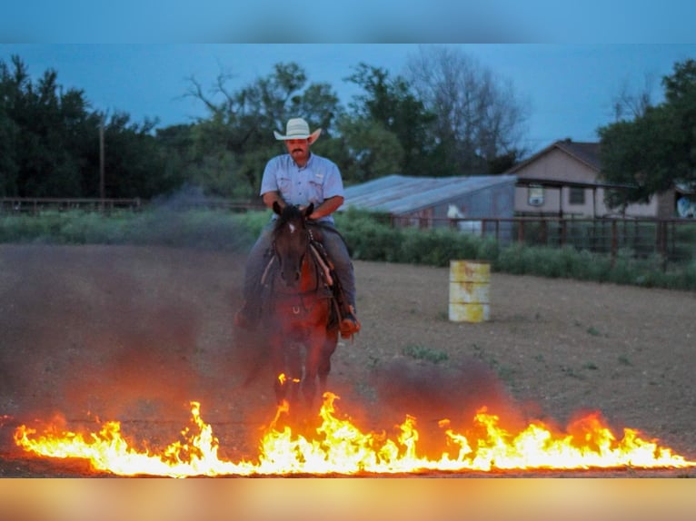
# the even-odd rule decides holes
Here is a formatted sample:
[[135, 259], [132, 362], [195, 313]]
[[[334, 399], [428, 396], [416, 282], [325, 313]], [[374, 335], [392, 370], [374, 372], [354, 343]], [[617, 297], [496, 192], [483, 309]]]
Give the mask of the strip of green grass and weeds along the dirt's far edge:
[[[45, 211], [37, 216], [0, 215], [0, 242], [51, 244], [153, 244], [213, 250], [248, 251], [270, 211], [223, 210]], [[550, 278], [594, 280], [646, 288], [696, 290], [696, 261], [671, 263], [658, 255], [637, 258], [637, 251], [605, 253], [512, 243], [473, 237], [449, 228], [393, 228], [362, 211], [336, 214], [336, 224], [353, 259], [445, 267], [451, 260], [491, 262], [492, 271]], [[696, 237], [696, 234], [693, 236]], [[696, 241], [680, 233], [680, 247], [696, 251]], [[691, 242], [688, 242], [691, 241]], [[590, 333], [592, 334], [592, 333]]]

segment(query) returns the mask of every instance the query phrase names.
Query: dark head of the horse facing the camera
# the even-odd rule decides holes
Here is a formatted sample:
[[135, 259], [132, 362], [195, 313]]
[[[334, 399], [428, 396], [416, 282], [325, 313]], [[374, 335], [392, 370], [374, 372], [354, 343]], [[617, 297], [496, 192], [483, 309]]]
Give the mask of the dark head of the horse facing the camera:
[[310, 204], [301, 211], [290, 204], [281, 209], [278, 202], [273, 202], [273, 211], [278, 214], [273, 230], [273, 251], [281, 279], [286, 286], [294, 288], [300, 281], [303, 261], [309, 250], [307, 218], [314, 211], [314, 205]]

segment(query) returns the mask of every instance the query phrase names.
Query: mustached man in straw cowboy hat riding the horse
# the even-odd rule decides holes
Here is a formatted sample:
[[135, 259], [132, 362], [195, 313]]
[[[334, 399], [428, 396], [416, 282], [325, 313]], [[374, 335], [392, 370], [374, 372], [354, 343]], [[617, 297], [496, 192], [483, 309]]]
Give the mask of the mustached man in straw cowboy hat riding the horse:
[[[288, 120], [285, 135], [273, 131], [276, 140], [285, 142], [287, 153], [274, 157], [266, 164], [260, 195], [267, 208], [273, 208], [273, 202], [278, 202], [281, 208], [286, 204], [301, 208], [314, 204], [309, 219], [323, 226], [323, 247], [333, 261], [347, 301], [347, 307], [342, 310], [341, 335], [349, 338], [360, 330], [355, 312], [353, 262], [343, 238], [335, 229], [332, 216], [343, 204], [343, 179], [335, 163], [310, 152], [310, 146], [321, 133], [322, 129], [310, 133], [309, 124], [302, 118]], [[273, 219], [275, 217], [273, 214]], [[244, 307], [234, 319], [234, 323], [242, 328], [253, 329], [259, 318], [257, 294], [265, 268], [264, 254], [271, 247], [272, 230], [273, 221], [265, 226], [246, 261]]]

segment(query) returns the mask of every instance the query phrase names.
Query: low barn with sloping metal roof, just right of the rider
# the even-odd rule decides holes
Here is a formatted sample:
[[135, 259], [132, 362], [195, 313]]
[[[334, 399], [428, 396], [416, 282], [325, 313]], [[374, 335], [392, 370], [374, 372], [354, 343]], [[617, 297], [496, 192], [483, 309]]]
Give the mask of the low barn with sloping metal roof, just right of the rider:
[[412, 177], [387, 175], [345, 189], [342, 211], [351, 208], [386, 213], [395, 225], [478, 226], [490, 232], [494, 222], [514, 216], [514, 175]]

